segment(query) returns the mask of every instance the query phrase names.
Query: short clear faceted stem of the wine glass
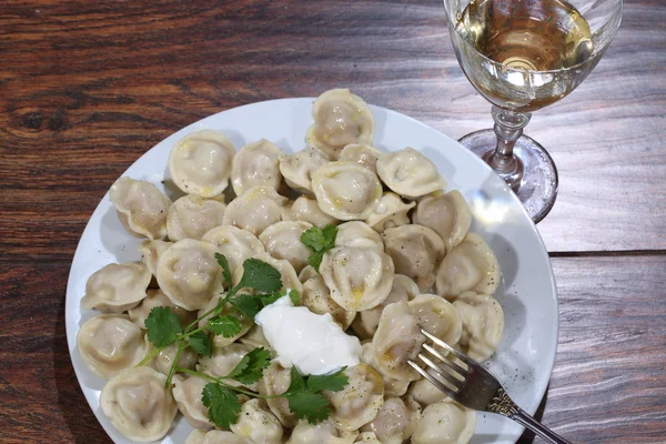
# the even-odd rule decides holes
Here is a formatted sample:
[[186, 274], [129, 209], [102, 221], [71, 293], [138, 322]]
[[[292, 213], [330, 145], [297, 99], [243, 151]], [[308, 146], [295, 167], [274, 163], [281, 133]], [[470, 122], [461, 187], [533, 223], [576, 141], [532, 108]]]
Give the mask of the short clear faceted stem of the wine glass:
[[483, 160], [502, 178], [514, 192], [521, 188], [523, 180], [523, 162], [518, 159], [513, 148], [523, 135], [523, 128], [529, 122], [532, 114], [503, 110], [493, 107], [493, 120], [495, 121], [495, 135], [497, 145], [494, 151], [483, 155]]

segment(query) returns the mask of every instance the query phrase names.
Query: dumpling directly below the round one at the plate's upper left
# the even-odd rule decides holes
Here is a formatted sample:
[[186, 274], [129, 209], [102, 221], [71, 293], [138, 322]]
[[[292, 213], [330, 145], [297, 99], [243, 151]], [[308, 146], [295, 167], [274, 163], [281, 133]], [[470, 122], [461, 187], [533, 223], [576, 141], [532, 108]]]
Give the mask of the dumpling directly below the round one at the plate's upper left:
[[208, 231], [222, 225], [226, 205], [214, 199], [184, 195], [173, 202], [167, 218], [169, 240], [200, 240]]

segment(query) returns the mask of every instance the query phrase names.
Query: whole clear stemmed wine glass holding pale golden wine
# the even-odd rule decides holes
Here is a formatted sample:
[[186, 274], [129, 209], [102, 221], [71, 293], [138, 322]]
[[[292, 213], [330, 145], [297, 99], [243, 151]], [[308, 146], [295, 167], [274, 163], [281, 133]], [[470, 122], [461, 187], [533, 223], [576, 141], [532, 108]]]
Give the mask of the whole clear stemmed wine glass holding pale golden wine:
[[518, 195], [534, 222], [553, 208], [557, 170], [523, 135], [532, 112], [572, 92], [596, 67], [619, 27], [623, 0], [444, 0], [465, 75], [493, 104], [494, 129], [460, 142]]

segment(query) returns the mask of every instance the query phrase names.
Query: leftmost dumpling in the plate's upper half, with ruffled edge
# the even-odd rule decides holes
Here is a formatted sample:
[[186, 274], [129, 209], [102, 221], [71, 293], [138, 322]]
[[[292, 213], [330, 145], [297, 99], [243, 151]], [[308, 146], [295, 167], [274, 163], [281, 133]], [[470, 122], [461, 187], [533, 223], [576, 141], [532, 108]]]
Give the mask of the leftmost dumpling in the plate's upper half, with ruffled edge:
[[151, 240], [167, 236], [171, 199], [147, 181], [120, 178], [109, 191], [118, 219], [135, 236]]

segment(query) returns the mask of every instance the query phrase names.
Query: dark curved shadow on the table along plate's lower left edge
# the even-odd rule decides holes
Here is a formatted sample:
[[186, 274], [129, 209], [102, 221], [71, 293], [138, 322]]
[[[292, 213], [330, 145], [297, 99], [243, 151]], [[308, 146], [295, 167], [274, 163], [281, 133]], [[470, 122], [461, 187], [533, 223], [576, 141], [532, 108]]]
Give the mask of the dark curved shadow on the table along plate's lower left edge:
[[64, 295], [58, 306], [53, 332], [53, 372], [58, 390], [58, 408], [77, 444], [110, 443], [109, 436], [99, 425], [90, 410], [69, 355], [64, 327]]

